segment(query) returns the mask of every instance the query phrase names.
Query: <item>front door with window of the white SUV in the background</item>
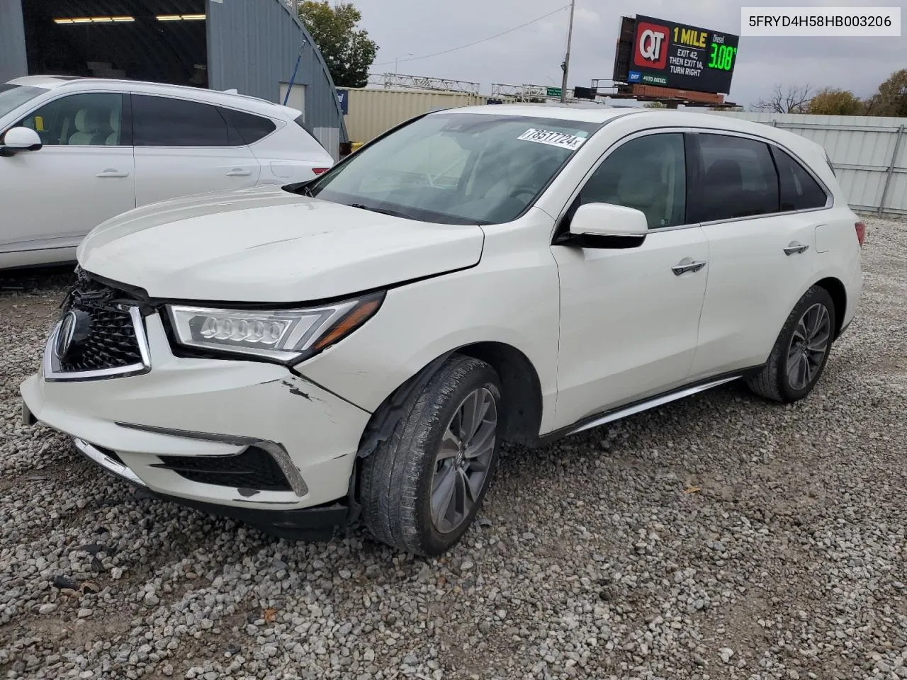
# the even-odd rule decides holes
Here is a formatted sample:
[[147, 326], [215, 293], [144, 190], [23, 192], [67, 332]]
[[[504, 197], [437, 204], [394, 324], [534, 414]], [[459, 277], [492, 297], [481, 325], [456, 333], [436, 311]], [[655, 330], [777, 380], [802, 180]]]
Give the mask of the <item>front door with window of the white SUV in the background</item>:
[[47, 102], [11, 127], [44, 146], [0, 158], [0, 253], [74, 248], [105, 219], [135, 208], [123, 95], [83, 92]]

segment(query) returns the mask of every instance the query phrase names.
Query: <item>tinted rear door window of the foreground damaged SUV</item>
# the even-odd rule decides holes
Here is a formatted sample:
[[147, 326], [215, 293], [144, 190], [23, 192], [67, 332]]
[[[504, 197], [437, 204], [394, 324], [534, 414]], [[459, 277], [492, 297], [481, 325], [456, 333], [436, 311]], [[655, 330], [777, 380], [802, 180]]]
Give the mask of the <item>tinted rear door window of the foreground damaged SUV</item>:
[[697, 221], [778, 212], [778, 174], [766, 142], [724, 134], [697, 137], [702, 160]]

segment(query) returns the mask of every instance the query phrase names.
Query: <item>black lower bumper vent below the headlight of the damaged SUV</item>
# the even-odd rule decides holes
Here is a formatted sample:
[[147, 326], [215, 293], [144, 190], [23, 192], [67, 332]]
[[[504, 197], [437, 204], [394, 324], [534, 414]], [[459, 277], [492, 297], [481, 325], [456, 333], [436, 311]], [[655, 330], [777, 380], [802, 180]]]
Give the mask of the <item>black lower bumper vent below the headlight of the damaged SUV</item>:
[[256, 491], [293, 491], [287, 476], [270, 453], [249, 446], [235, 456], [159, 456], [154, 465], [201, 484], [231, 486]]

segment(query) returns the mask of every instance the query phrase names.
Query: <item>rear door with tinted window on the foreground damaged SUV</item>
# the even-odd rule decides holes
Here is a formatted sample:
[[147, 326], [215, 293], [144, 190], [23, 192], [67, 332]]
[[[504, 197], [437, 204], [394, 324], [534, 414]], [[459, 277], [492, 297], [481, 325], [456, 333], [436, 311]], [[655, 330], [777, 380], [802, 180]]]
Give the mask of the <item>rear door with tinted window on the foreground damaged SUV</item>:
[[689, 141], [698, 149], [696, 219], [709, 251], [691, 372], [701, 379], [766, 362], [814, 276], [815, 233], [825, 211], [797, 208], [821, 208], [826, 197], [820, 189], [821, 196], [795, 201], [793, 170], [764, 140], [728, 132], [693, 133]]

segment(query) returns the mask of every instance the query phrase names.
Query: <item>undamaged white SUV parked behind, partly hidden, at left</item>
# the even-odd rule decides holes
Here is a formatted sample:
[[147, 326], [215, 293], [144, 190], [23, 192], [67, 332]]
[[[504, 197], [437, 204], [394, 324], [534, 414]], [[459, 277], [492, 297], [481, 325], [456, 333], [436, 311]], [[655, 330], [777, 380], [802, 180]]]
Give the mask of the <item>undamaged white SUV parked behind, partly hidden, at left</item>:
[[310, 180], [301, 112], [200, 88], [68, 76], [0, 84], [0, 269], [73, 260], [92, 228], [163, 199]]

